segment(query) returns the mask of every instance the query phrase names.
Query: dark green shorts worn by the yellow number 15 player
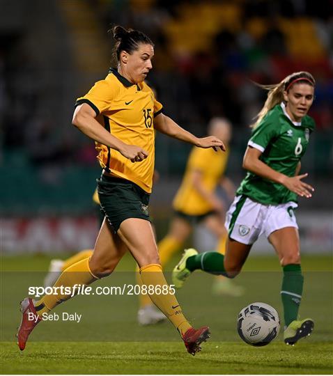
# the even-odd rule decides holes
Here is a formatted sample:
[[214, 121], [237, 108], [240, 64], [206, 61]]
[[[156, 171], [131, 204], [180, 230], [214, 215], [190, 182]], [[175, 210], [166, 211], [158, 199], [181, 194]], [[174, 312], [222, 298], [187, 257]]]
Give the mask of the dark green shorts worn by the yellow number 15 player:
[[100, 207], [116, 233], [121, 222], [128, 218], [150, 221], [148, 204], [150, 194], [134, 182], [102, 175], [98, 182]]

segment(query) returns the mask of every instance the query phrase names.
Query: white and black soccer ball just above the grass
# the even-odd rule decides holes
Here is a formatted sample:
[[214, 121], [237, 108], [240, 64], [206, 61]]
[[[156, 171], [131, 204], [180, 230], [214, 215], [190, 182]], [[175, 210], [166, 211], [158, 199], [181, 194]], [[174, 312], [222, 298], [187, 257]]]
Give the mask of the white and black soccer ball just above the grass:
[[279, 314], [268, 304], [258, 302], [249, 304], [238, 315], [238, 334], [249, 345], [268, 345], [277, 337], [279, 330]]

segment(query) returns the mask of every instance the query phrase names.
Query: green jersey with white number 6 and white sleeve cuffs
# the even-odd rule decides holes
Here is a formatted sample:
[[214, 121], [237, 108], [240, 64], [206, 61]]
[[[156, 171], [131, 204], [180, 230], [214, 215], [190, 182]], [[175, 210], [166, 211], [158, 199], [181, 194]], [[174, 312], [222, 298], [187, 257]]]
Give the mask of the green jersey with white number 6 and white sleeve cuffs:
[[[298, 162], [307, 150], [309, 135], [315, 123], [304, 116], [296, 123], [286, 113], [284, 103], [274, 106], [254, 128], [248, 145], [262, 152], [260, 159], [271, 169], [287, 176], [295, 176]], [[238, 188], [237, 195], [268, 205], [297, 202], [297, 195], [284, 185], [248, 172]]]

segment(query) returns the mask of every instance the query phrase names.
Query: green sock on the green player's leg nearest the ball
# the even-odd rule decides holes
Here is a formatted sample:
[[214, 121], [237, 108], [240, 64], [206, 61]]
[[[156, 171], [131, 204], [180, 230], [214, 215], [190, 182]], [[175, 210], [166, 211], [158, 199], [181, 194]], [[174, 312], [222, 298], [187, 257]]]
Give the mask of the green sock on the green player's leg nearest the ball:
[[284, 305], [284, 324], [286, 327], [297, 320], [302, 299], [303, 281], [301, 266], [290, 264], [284, 266], [284, 279], [281, 287], [281, 299]]

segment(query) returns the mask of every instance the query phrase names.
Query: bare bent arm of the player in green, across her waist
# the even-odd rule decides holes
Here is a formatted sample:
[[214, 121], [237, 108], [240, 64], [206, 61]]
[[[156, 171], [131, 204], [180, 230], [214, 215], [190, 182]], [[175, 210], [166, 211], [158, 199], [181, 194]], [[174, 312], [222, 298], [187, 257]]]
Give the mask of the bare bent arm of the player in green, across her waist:
[[306, 198], [310, 198], [312, 196], [311, 192], [314, 191], [313, 187], [305, 182], [302, 182], [302, 179], [307, 177], [307, 173], [290, 178], [283, 173], [279, 173], [271, 169], [270, 166], [263, 163], [259, 159], [260, 156], [260, 150], [248, 146], [243, 159], [243, 168], [255, 173], [258, 176], [261, 176], [262, 178], [272, 180], [273, 182], [278, 182], [299, 196]]

